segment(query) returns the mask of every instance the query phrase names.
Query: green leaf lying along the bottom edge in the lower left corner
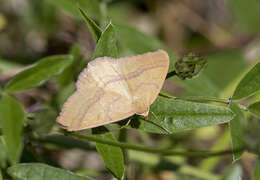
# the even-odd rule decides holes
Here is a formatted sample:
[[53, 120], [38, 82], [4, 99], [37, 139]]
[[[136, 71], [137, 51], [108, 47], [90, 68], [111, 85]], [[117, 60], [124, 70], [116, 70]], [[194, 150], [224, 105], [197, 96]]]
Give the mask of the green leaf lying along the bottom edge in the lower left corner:
[[54, 168], [41, 163], [17, 164], [7, 169], [7, 173], [16, 180], [91, 180], [70, 171]]

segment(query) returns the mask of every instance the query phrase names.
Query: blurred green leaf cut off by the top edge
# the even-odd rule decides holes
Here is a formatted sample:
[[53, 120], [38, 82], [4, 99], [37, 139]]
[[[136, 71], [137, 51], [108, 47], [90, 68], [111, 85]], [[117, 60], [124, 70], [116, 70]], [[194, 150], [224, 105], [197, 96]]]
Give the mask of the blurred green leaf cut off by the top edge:
[[49, 3], [62, 8], [76, 18], [79, 18], [78, 7], [88, 12], [88, 15], [101, 19], [99, 0], [47, 0]]

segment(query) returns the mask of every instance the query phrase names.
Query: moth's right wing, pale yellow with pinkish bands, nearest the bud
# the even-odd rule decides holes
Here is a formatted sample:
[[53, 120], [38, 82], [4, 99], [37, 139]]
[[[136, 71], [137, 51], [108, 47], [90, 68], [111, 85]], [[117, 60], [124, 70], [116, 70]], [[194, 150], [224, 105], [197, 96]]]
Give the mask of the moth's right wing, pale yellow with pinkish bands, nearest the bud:
[[169, 68], [163, 50], [119, 59], [136, 114], [147, 116], [150, 105], [160, 92]]

